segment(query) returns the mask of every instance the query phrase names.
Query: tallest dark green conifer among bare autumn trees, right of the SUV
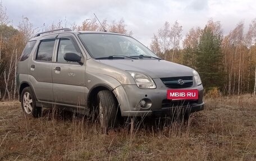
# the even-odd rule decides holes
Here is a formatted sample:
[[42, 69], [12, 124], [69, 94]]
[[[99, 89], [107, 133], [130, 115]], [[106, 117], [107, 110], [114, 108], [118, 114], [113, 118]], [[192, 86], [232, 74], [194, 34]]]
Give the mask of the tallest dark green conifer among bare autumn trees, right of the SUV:
[[223, 54], [221, 35], [214, 34], [210, 27], [202, 30], [196, 56], [196, 70], [205, 89], [222, 88], [224, 84]]

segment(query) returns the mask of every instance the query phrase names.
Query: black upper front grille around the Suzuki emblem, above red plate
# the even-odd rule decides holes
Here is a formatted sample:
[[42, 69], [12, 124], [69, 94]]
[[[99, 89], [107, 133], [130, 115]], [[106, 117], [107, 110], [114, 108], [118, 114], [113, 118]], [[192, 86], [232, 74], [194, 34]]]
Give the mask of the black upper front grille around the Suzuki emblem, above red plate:
[[[189, 88], [193, 86], [193, 76], [167, 77], [161, 78], [161, 80], [167, 88]], [[179, 80], [182, 80], [184, 84], [179, 84]]]

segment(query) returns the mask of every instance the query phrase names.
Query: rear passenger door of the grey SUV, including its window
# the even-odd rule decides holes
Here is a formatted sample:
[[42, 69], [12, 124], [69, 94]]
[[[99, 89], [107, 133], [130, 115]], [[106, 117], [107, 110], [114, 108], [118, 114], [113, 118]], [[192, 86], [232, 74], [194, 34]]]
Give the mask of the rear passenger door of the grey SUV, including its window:
[[29, 80], [34, 93], [38, 100], [45, 102], [53, 102], [52, 57], [55, 43], [55, 36], [45, 36], [29, 61]]

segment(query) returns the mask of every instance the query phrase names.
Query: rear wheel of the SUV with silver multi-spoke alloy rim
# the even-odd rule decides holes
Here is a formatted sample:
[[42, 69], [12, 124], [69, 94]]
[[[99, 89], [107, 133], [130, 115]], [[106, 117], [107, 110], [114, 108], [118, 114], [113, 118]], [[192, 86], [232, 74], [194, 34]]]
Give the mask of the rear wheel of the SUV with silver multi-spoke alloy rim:
[[21, 92], [21, 107], [26, 116], [40, 117], [42, 108], [36, 107], [36, 99], [33, 90], [26, 87]]

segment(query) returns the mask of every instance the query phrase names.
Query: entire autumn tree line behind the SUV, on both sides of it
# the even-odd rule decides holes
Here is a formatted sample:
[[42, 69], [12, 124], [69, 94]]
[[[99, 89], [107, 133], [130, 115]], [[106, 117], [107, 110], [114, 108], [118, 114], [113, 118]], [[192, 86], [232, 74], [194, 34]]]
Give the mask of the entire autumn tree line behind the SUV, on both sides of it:
[[[28, 40], [39, 31], [70, 27], [72, 30], [108, 31], [132, 35], [124, 19], [108, 22], [85, 19], [81, 24], [58, 21], [36, 28], [22, 16], [17, 27], [10, 25], [6, 8], [0, 2], [0, 100], [17, 99], [17, 62]], [[178, 21], [165, 22], [153, 34], [150, 49], [162, 59], [180, 63], [199, 72], [205, 90], [218, 89], [222, 94], [254, 93], [256, 90], [256, 19], [244, 33], [239, 22], [228, 35], [223, 35], [220, 21], [210, 19], [205, 27], [192, 27], [182, 35]]]

